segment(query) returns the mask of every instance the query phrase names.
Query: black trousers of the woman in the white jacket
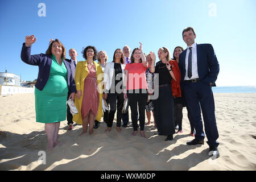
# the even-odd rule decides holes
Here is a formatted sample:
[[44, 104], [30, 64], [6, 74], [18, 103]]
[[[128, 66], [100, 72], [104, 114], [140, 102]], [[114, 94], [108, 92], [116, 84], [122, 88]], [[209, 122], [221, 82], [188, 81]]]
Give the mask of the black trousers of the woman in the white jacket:
[[122, 108], [123, 108], [123, 93], [109, 93], [108, 101], [110, 105], [109, 118], [108, 118], [108, 127], [112, 127], [115, 111], [117, 110], [117, 127], [121, 126], [122, 119]]

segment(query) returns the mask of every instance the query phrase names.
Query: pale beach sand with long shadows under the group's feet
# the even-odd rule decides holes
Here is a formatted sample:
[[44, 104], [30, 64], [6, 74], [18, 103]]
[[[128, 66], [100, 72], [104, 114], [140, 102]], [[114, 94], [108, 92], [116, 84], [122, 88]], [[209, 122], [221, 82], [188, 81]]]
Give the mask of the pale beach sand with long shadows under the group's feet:
[[[154, 135], [153, 118], [145, 126], [146, 137], [131, 135], [129, 127], [105, 133], [101, 122], [94, 134], [79, 137], [82, 126], [67, 130], [60, 124], [56, 146], [46, 152], [44, 124], [35, 122], [34, 93], [0, 96], [0, 170], [251, 170], [256, 169], [256, 94], [214, 94], [220, 137], [220, 158], [208, 156], [209, 146], [188, 146], [192, 140], [187, 110], [183, 109], [183, 130], [174, 140]], [[147, 122], [147, 119], [146, 119]], [[88, 127], [89, 128], [89, 127]], [[139, 130], [138, 130], [139, 131]], [[46, 164], [38, 162], [46, 156]], [[41, 161], [41, 160], [40, 160]]]

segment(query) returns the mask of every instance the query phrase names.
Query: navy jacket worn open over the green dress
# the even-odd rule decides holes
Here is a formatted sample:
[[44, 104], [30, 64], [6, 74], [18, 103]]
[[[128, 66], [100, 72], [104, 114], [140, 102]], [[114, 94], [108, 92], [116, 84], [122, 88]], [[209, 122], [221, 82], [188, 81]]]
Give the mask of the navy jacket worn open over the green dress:
[[[31, 53], [31, 46], [26, 47], [25, 43], [23, 43], [22, 51], [20, 53], [20, 58], [24, 63], [30, 64], [30, 65], [38, 65], [39, 72], [38, 72], [38, 79], [36, 80], [35, 87], [42, 91], [44, 86], [46, 86], [46, 83], [50, 75], [52, 57], [44, 53], [41, 53], [40, 55], [30, 55], [30, 53]], [[67, 76], [68, 89], [70, 90], [71, 93], [76, 92], [76, 83], [75, 83], [75, 79], [72, 77], [72, 74], [71, 74], [71, 65], [66, 60], [64, 60], [64, 64], [68, 71], [68, 76]]]

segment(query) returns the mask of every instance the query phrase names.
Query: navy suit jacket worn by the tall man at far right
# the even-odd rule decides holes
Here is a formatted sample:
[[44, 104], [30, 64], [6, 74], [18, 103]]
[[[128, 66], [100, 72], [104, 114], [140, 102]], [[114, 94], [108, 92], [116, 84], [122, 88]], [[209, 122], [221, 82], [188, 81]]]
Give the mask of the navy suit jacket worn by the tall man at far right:
[[[216, 86], [218, 72], [220, 72], [220, 65], [218, 64], [217, 57], [214, 53], [212, 44], [197, 44], [197, 71], [201, 81], [205, 84]], [[181, 88], [184, 85], [184, 77], [186, 73], [185, 57], [187, 49], [179, 55], [179, 68], [181, 73]]]

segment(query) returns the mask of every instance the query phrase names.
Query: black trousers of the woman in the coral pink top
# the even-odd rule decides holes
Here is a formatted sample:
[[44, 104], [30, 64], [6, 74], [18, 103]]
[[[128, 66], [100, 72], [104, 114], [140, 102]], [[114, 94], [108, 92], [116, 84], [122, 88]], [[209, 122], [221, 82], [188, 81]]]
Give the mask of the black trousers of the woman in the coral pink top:
[[131, 122], [133, 123], [133, 130], [138, 130], [138, 107], [139, 107], [139, 127], [141, 131], [144, 130], [145, 125], [145, 109], [147, 102], [146, 90], [139, 90], [137, 93], [135, 90], [128, 90], [128, 98], [131, 106]]

